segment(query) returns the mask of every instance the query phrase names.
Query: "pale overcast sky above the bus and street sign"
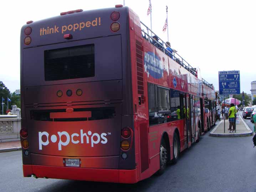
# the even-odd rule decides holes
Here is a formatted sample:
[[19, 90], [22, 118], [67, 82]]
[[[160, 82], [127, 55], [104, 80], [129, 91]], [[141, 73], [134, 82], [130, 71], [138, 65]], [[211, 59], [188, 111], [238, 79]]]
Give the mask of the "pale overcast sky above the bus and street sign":
[[[1, 2], [0, 81], [11, 92], [20, 88], [20, 28], [60, 12], [100, 9], [123, 0], [26, 0]], [[150, 26], [148, 0], [126, 0], [140, 20]], [[153, 31], [163, 40], [168, 5], [169, 41], [191, 66], [218, 90], [218, 71], [240, 70], [241, 92], [251, 93], [256, 80], [256, 1], [254, 0], [152, 0]]]

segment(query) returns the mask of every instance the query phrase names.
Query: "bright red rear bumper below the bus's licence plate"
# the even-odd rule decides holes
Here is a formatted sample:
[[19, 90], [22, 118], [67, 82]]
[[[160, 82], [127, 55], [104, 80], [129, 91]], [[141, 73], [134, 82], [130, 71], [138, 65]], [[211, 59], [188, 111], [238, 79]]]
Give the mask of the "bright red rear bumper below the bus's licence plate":
[[68, 180], [137, 183], [137, 168], [134, 170], [97, 169], [80, 167], [58, 167], [42, 165], [23, 165], [24, 177], [35, 175], [38, 178], [57, 178]]

